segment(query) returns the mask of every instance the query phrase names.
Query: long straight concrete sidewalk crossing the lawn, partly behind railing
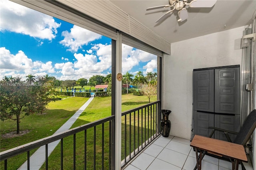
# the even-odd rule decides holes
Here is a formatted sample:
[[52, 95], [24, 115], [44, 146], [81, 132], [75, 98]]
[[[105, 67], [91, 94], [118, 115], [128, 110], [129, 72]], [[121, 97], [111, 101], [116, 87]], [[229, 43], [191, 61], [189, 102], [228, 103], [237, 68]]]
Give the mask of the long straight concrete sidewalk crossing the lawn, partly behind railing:
[[[78, 109], [78, 111], [72, 117], [70, 117], [70, 119], [68, 119], [68, 121], [66, 121], [66, 123], [64, 123], [62, 127], [60, 127], [54, 134], [64, 132], [70, 129], [70, 127], [74, 124], [76, 119], [78, 119], [81, 113], [91, 103], [93, 98], [94, 98], [93, 96], [90, 97], [90, 99], [86, 101], [86, 103], [84, 103], [84, 105], [82, 105], [82, 107], [80, 107], [80, 109]], [[55, 142], [48, 144], [48, 156], [52, 153], [52, 151], [58, 145], [59, 142], [60, 140], [56, 140]], [[34, 152], [34, 154], [32, 154], [32, 156], [30, 156], [30, 169], [39, 170], [42, 164], [44, 164], [44, 162], [45, 162], [45, 146], [41, 146], [38, 150], [36, 150], [36, 152]], [[24, 164], [22, 164], [22, 166], [20, 166], [18, 170], [27, 170], [28, 169], [27, 164], [28, 164], [27, 161], [24, 162]]]

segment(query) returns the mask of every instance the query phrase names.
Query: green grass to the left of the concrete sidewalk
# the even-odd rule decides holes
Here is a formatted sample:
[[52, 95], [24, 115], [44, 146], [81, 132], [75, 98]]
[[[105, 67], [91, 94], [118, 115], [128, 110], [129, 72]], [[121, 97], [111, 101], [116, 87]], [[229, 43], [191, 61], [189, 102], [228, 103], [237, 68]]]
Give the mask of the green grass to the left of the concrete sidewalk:
[[[4, 138], [2, 135], [16, 132], [16, 122], [1, 121], [1, 152], [54, 134], [87, 100], [88, 98], [72, 97], [50, 102], [42, 115], [33, 114], [21, 119], [20, 131], [28, 130], [22, 136]], [[30, 154], [35, 151], [32, 150]], [[25, 161], [26, 153], [8, 159], [8, 166], [10, 169], [18, 169]], [[1, 169], [4, 168], [3, 163], [2, 161]]]

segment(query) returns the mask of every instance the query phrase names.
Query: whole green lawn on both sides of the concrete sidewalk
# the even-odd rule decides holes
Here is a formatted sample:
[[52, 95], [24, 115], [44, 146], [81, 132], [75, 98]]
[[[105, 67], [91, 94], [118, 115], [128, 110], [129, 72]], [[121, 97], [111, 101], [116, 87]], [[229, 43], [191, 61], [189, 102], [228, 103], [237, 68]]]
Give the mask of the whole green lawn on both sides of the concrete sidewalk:
[[[21, 121], [21, 130], [28, 129], [30, 132], [20, 137], [16, 138], [1, 138], [1, 151], [13, 148], [15, 146], [20, 146], [22, 144], [44, 138], [53, 134], [61, 125], [63, 125], [74, 113], [77, 111], [83, 103], [85, 103], [88, 98], [72, 97], [62, 101], [56, 101], [49, 104], [46, 114], [43, 115], [30, 115], [25, 117]], [[150, 99], [150, 101], [156, 101], [156, 97]], [[148, 98], [146, 96], [133, 96], [122, 95], [122, 111], [133, 109], [141, 105], [148, 103]], [[71, 128], [84, 125], [89, 122], [102, 119], [111, 115], [111, 97], [95, 97], [86, 110], [77, 119]], [[137, 122], [138, 120], [136, 120]], [[123, 124], [124, 125], [124, 124]], [[101, 167], [101, 136], [102, 136], [102, 126], [96, 127], [96, 164]], [[108, 132], [109, 125], [104, 125], [104, 132]], [[1, 122], [1, 135], [15, 130], [14, 121], [4, 121]], [[91, 169], [92, 164], [92, 152], [93, 152], [93, 129], [87, 130], [87, 167]], [[108, 169], [108, 133], [104, 133], [104, 157], [105, 163], [104, 167]], [[84, 132], [76, 134], [76, 168], [83, 169], [84, 165]], [[124, 142], [123, 142], [124, 144]], [[122, 145], [123, 145], [122, 144]], [[33, 151], [34, 152], [34, 151]], [[32, 152], [30, 153], [32, 154]], [[60, 167], [60, 147], [57, 146], [49, 157], [49, 169], [59, 169]], [[124, 156], [122, 156], [124, 157]], [[73, 136], [64, 139], [64, 169], [72, 169], [73, 159]], [[8, 165], [11, 169], [17, 169], [25, 160], [26, 154], [21, 156], [16, 156], [14, 159], [8, 160]], [[12, 163], [13, 162], [13, 163]], [[2, 165], [2, 162], [1, 162]], [[1, 166], [3, 167], [3, 166]], [[98, 168], [99, 168], [98, 167]], [[41, 169], [45, 167], [42, 166]], [[104, 169], [105, 169], [104, 168]], [[2, 169], [2, 168], [1, 168]], [[96, 168], [97, 169], [97, 168]]]

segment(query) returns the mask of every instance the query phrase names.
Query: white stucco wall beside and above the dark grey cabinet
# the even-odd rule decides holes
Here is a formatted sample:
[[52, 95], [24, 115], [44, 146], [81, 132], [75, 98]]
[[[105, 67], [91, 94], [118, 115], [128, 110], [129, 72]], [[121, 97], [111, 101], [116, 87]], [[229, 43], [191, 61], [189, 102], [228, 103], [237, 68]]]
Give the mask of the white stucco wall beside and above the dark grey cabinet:
[[163, 107], [171, 110], [170, 135], [190, 139], [193, 102], [193, 69], [240, 65], [245, 27], [226, 30], [171, 44], [163, 59]]

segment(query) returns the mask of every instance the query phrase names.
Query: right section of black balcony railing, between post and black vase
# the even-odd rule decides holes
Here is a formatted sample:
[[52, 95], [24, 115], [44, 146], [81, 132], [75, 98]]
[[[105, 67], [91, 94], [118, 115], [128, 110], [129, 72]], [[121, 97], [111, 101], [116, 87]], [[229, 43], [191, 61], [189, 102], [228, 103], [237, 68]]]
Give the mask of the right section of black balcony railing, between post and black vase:
[[122, 113], [122, 166], [158, 136], [160, 105], [156, 101]]

